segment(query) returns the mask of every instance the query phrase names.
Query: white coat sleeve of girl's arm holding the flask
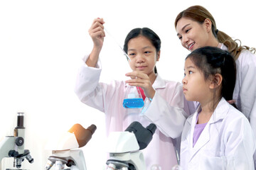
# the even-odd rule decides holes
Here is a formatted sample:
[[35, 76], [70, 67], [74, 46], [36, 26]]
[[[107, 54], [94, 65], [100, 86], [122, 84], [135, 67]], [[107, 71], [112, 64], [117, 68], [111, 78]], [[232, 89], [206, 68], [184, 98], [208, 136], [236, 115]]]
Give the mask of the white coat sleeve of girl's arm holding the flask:
[[[176, 104], [170, 105], [159, 93], [154, 95], [149, 108], [144, 113], [144, 118], [154, 123], [157, 128], [166, 136], [176, 138], [181, 135], [183, 125], [186, 121], [185, 111], [178, 107], [178, 103], [183, 105], [183, 95], [176, 94], [173, 101]], [[177, 107], [176, 107], [177, 106]]]

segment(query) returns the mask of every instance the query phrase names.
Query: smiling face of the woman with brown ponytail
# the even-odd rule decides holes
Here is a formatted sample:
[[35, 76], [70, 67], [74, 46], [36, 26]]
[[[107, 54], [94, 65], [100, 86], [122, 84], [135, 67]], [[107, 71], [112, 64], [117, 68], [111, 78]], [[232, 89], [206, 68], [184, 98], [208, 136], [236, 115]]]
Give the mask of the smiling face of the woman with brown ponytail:
[[188, 18], [181, 18], [176, 26], [181, 45], [189, 51], [208, 46], [209, 35], [206, 24], [200, 24]]

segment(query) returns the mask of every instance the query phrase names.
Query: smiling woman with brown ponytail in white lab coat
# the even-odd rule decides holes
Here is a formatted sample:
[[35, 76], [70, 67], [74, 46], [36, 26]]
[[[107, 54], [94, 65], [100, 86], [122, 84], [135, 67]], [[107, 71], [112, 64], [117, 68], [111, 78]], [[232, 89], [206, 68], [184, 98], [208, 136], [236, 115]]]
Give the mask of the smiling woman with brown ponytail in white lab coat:
[[256, 134], [256, 56], [252, 54], [255, 48], [238, 45], [240, 40], [233, 40], [218, 30], [213, 16], [203, 6], [191, 6], [178, 13], [175, 28], [181, 45], [187, 50], [212, 46], [233, 55], [237, 74], [233, 98], [229, 102], [235, 102]]

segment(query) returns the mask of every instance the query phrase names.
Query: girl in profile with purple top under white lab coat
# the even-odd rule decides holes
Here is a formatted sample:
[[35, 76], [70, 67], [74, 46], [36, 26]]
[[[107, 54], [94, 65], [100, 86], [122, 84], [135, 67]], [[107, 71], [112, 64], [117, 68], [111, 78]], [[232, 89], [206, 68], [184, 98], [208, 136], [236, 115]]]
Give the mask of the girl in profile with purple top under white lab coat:
[[186, 57], [183, 93], [198, 101], [181, 136], [183, 169], [254, 169], [255, 135], [227, 101], [233, 98], [235, 61], [218, 47], [201, 47]]

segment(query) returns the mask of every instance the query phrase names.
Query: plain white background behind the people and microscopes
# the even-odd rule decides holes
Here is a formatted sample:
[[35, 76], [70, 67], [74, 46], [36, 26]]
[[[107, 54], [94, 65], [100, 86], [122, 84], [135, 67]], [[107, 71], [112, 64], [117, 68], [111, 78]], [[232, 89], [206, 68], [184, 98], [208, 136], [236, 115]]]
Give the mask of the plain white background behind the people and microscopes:
[[[255, 0], [1, 0], [0, 140], [13, 135], [16, 113], [25, 112], [25, 149], [31, 151], [35, 162], [25, 160], [23, 169], [44, 169], [50, 156], [44, 149], [46, 142], [75, 123], [85, 128], [97, 125], [92, 140], [82, 150], [87, 169], [105, 169], [105, 115], [81, 103], [73, 90], [81, 59], [92, 48], [87, 30], [94, 18], [105, 19], [105, 28], [120, 45], [132, 28], [154, 30], [162, 41], [156, 64], [159, 74], [181, 81], [188, 51], [176, 36], [174, 20], [192, 5], [205, 6], [217, 28], [242, 40], [242, 45], [256, 46]], [[127, 61], [110, 36], [105, 38], [101, 60], [102, 81], [127, 79]]]

